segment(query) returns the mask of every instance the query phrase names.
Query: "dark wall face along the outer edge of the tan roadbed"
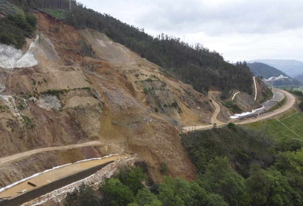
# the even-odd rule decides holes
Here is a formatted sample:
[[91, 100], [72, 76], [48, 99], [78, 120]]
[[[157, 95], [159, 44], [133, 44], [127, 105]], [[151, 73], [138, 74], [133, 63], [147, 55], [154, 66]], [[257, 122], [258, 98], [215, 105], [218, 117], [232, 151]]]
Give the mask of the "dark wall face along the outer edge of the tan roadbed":
[[100, 164], [100, 165], [95, 166], [93, 168], [89, 168], [87, 170], [84, 170], [84, 171], [78, 172], [76, 174], [67, 176], [63, 179], [56, 180], [56, 181], [54, 181], [50, 184], [44, 185], [44, 186], [39, 187], [37, 189], [26, 192], [22, 195], [16, 196], [16, 197], [14, 197], [13, 199], [10, 199], [10, 200], [0, 199], [0, 206], [18, 206], [18, 205], [21, 205], [25, 202], [33, 200], [33, 199], [35, 199], [37, 197], [40, 197], [42, 195], [45, 195], [48, 192], [51, 192], [53, 190], [62, 188], [65, 185], [68, 185], [68, 184], [71, 184], [73, 182], [82, 180], [82, 179], [96, 173], [97, 171], [99, 171], [100, 169], [105, 167], [106, 165], [111, 164], [113, 162], [114, 161], [110, 161], [110, 162], [107, 162], [105, 164]]

